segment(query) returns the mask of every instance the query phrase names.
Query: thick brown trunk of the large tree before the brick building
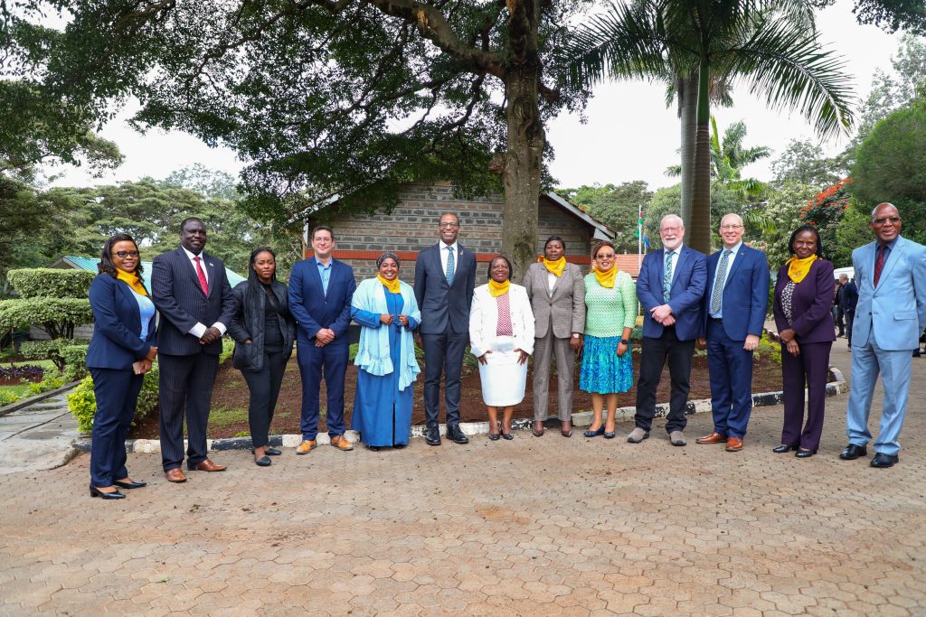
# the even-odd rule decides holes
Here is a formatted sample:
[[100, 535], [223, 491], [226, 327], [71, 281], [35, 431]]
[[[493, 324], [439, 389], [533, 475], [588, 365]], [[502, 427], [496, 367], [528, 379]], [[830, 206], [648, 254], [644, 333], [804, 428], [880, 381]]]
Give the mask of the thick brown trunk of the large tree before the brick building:
[[509, 0], [510, 64], [505, 76], [507, 153], [502, 179], [502, 252], [514, 265], [512, 280], [524, 278], [537, 254], [537, 206], [544, 155], [544, 123], [540, 117], [537, 53], [539, 0]]

